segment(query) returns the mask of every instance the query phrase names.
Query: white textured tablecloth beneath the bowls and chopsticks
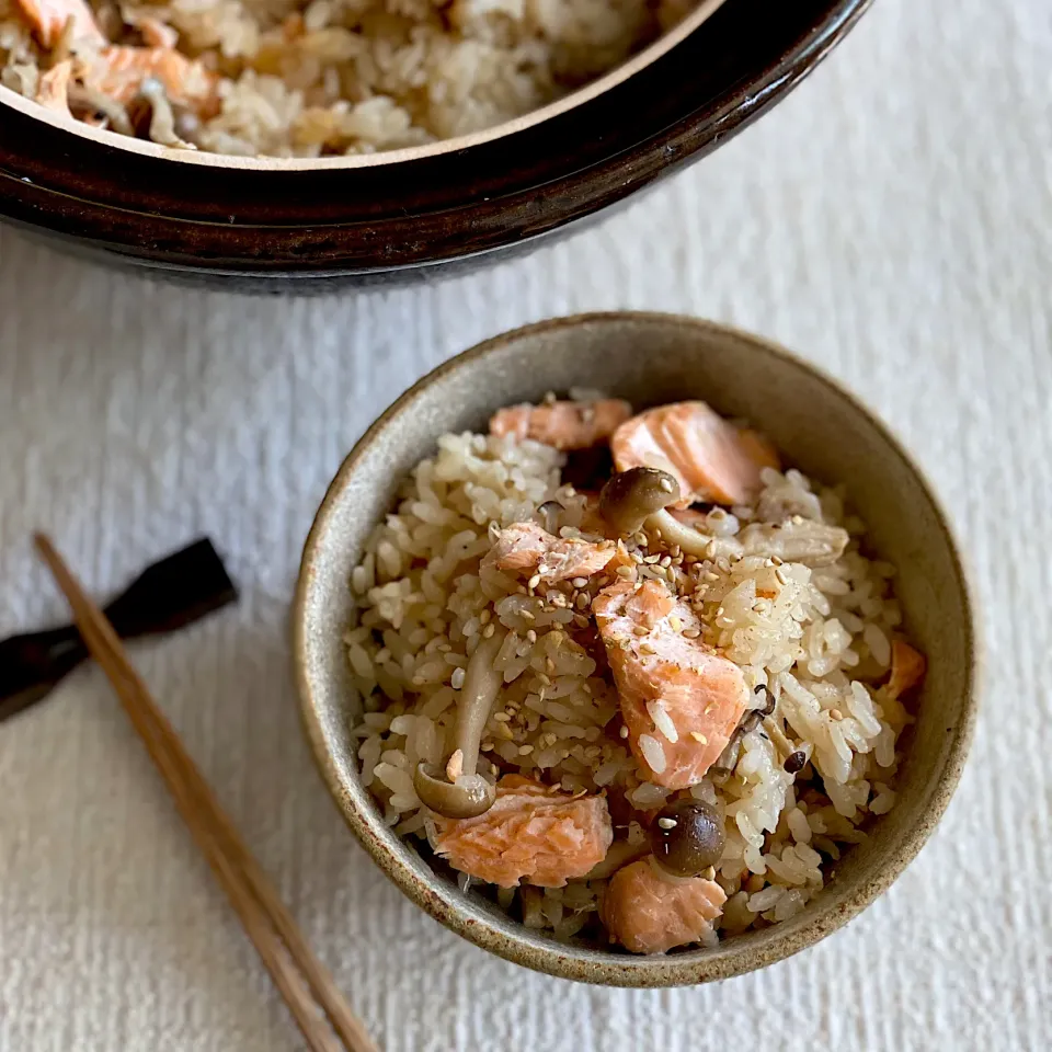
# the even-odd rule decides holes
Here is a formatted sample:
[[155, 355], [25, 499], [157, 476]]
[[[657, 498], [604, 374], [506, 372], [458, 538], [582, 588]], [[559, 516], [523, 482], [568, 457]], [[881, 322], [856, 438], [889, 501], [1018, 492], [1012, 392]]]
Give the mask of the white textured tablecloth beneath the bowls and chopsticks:
[[[787, 0], [788, 2], [788, 0]], [[0, 632], [210, 535], [236, 610], [137, 661], [387, 1052], [1052, 1048], [1052, 7], [881, 0], [784, 105], [628, 211], [434, 287], [313, 300], [116, 276], [0, 229]], [[810, 355], [906, 439], [982, 596], [963, 782], [905, 876], [761, 974], [606, 991], [484, 954], [352, 841], [286, 609], [343, 454], [445, 356], [594, 308]], [[270, 1052], [297, 1032], [98, 671], [0, 725], [0, 1050]]]

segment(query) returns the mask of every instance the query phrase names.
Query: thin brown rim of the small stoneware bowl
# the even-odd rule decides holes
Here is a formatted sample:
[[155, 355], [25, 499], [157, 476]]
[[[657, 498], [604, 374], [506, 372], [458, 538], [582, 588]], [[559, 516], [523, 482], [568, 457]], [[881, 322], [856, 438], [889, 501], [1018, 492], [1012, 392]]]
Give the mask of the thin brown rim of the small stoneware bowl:
[[[652, 956], [602, 956], [585, 957], [584, 951], [573, 946], [560, 946], [554, 942], [536, 939], [522, 929], [514, 937], [494, 927], [482, 916], [469, 915], [453, 897], [437, 877], [422, 879], [403, 860], [396, 857], [384, 839], [377, 836], [382, 823], [352, 805], [344, 805], [348, 799], [347, 786], [344, 784], [341, 771], [325, 746], [321, 718], [317, 710], [311, 677], [308, 675], [306, 661], [307, 638], [305, 634], [305, 610], [313, 576], [312, 563], [318, 554], [322, 535], [328, 528], [329, 521], [342, 500], [348, 481], [355, 473], [358, 464], [370, 447], [380, 441], [390, 423], [412, 407], [416, 398], [436, 381], [453, 373], [470, 368], [476, 362], [490, 354], [499, 352], [513, 341], [523, 336], [538, 335], [563, 329], [575, 328], [581, 324], [634, 320], [640, 322], [674, 322], [677, 325], [689, 325], [699, 334], [719, 333], [730, 335], [752, 344], [756, 350], [773, 357], [788, 362], [814, 375], [821, 382], [833, 388], [834, 392], [845, 399], [854, 411], [858, 412], [870, 426], [887, 442], [890, 451], [899, 459], [902, 467], [914, 476], [935, 513], [939, 533], [950, 556], [951, 565], [957, 585], [963, 599], [962, 624], [964, 626], [964, 643], [967, 654], [965, 689], [960, 719], [953, 728], [951, 741], [946, 753], [945, 763], [929, 789], [927, 809], [915, 825], [904, 831], [902, 841], [889, 865], [879, 873], [859, 885], [850, 889], [845, 900], [836, 910], [826, 914], [819, 914], [805, 925], [785, 934], [781, 938], [773, 937], [771, 941], [758, 946], [734, 949], [737, 939], [728, 940], [719, 948], [701, 956], [688, 957]], [[979, 710], [980, 681], [982, 666], [982, 640], [980, 625], [975, 616], [975, 590], [961, 546], [957, 542], [953, 528], [942, 502], [928, 482], [913, 457], [897, 435], [870, 411], [845, 385], [828, 374], [821, 366], [794, 354], [774, 341], [747, 332], [733, 325], [707, 321], [685, 315], [659, 311], [598, 311], [579, 313], [563, 318], [523, 325], [514, 330], [492, 336], [481, 343], [460, 352], [443, 362], [425, 374], [415, 384], [408, 388], [385, 410], [355, 443], [351, 453], [344, 458], [335, 477], [329, 484], [325, 495], [318, 508], [315, 521], [304, 545], [299, 576], [291, 604], [291, 642], [295, 678], [299, 696], [299, 711], [311, 746], [316, 766], [318, 767], [327, 788], [340, 809], [344, 821], [352, 833], [365, 847], [373, 860], [384, 870], [396, 887], [418, 906], [428, 913], [451, 931], [461, 936], [476, 946], [489, 950], [510, 960], [523, 964], [535, 971], [544, 972], [559, 979], [584, 981], [608, 986], [627, 986], [634, 988], [668, 987], [679, 985], [695, 985], [729, 979], [744, 974], [768, 964], [776, 963], [793, 956], [819, 942], [826, 935], [843, 927], [850, 919], [861, 913], [876, 901], [916, 858], [921, 848], [935, 831], [950, 802], [960, 781], [968, 752], [971, 746]], [[384, 827], [386, 830], [386, 827]], [[389, 832], [389, 831], [388, 831]], [[514, 923], [514, 922], [513, 922]], [[521, 927], [521, 926], [519, 926]], [[769, 929], [768, 929], [769, 930]]]

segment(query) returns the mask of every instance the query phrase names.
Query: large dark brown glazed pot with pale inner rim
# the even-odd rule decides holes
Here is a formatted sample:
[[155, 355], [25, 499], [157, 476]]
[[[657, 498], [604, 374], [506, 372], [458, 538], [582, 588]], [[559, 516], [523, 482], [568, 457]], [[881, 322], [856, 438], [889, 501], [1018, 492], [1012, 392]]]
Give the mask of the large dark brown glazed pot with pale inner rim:
[[0, 85], [0, 218], [196, 283], [405, 281], [525, 251], [769, 110], [870, 0], [698, 0], [598, 81], [426, 147], [317, 160], [172, 150]]

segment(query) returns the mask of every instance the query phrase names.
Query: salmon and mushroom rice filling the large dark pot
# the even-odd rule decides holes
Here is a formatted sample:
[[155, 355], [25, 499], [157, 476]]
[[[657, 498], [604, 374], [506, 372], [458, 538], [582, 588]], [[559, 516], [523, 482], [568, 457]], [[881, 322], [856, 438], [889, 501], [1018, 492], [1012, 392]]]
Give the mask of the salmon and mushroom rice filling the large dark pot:
[[0, 0], [0, 83], [164, 146], [371, 153], [492, 127], [697, 0]]

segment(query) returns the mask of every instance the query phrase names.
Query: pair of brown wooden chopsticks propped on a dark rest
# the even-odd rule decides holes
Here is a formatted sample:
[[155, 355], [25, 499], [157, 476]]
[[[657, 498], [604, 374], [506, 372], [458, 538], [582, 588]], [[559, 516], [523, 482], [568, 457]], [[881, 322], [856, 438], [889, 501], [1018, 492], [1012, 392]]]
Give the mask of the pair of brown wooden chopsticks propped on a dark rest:
[[38, 534], [35, 542], [69, 602], [84, 644], [113, 685], [308, 1047], [312, 1052], [377, 1052], [150, 697], [113, 626], [84, 594], [50, 540]]

